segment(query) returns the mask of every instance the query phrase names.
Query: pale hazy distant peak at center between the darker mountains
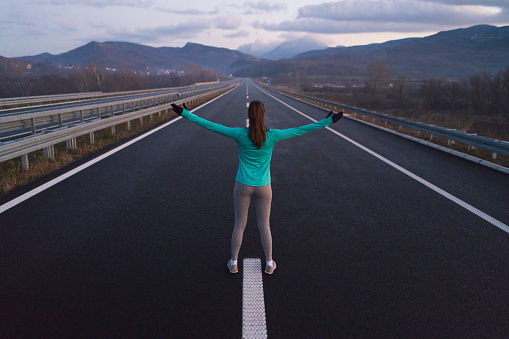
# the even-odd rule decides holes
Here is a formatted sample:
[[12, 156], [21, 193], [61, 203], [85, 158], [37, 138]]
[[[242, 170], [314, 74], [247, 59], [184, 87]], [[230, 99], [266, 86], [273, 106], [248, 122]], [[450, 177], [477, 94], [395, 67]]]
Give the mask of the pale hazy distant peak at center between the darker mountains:
[[325, 48], [327, 48], [325, 43], [310, 37], [304, 37], [297, 40], [283, 42], [268, 52], [253, 50], [253, 44], [242, 45], [237, 49], [237, 51], [251, 54], [262, 59], [278, 60], [293, 58], [304, 52]]

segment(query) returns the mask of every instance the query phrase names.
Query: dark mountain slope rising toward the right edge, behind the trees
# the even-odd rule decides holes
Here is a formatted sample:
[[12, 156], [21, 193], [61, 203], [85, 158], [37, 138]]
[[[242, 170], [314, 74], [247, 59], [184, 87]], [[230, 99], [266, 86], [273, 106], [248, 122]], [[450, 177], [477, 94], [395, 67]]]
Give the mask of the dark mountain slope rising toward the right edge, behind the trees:
[[365, 46], [335, 47], [297, 55], [290, 61], [258, 61], [238, 76], [273, 76], [280, 72], [308, 75], [364, 76], [367, 65], [382, 61], [393, 75], [409, 78], [464, 78], [509, 66], [509, 26], [473, 26]]

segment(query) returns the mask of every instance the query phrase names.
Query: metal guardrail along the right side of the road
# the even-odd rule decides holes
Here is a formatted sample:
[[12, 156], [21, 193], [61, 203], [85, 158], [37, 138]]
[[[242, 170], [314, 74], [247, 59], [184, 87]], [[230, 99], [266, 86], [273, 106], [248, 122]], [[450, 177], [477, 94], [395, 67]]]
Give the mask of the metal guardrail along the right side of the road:
[[469, 134], [465, 132], [461, 132], [455, 129], [448, 129], [444, 127], [434, 126], [425, 124], [423, 122], [416, 122], [416, 121], [409, 121], [402, 118], [392, 117], [388, 114], [378, 113], [374, 111], [368, 111], [362, 108], [347, 106], [343, 104], [338, 104], [335, 102], [322, 100], [313, 98], [310, 96], [302, 95], [302, 94], [296, 94], [288, 91], [283, 91], [280, 89], [276, 89], [273, 87], [267, 87], [273, 92], [277, 92], [286, 96], [290, 96], [293, 98], [300, 98], [303, 101], [310, 102], [312, 104], [322, 105], [325, 107], [328, 107], [330, 109], [335, 109], [336, 111], [339, 109], [343, 109], [346, 111], [350, 111], [353, 113], [358, 113], [362, 115], [369, 116], [373, 118], [374, 120], [378, 119], [381, 121], [385, 121], [386, 123], [395, 124], [398, 126], [407, 127], [413, 130], [418, 131], [418, 134], [420, 132], [428, 133], [431, 135], [431, 140], [433, 140], [434, 136], [439, 136], [442, 138], [445, 138], [448, 140], [448, 143], [450, 144], [452, 141], [467, 145], [469, 149], [472, 147], [478, 147], [485, 149], [492, 153], [492, 158], [496, 159], [497, 154], [503, 154], [509, 156], [509, 142], [507, 141], [500, 141], [495, 139], [490, 139], [482, 136], [478, 136], [475, 134]]

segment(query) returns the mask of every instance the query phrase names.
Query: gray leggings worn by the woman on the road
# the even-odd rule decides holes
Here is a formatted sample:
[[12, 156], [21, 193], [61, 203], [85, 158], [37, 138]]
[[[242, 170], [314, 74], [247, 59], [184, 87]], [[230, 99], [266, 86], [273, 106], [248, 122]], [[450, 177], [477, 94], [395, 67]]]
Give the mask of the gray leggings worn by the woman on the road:
[[260, 229], [265, 259], [272, 260], [272, 235], [270, 233], [270, 205], [272, 202], [272, 187], [270, 184], [265, 186], [248, 186], [235, 181], [233, 191], [233, 200], [235, 204], [235, 226], [232, 234], [232, 259], [237, 260], [240, 246], [242, 245], [242, 236], [247, 224], [247, 212], [251, 196], [254, 198], [256, 207], [256, 219]]

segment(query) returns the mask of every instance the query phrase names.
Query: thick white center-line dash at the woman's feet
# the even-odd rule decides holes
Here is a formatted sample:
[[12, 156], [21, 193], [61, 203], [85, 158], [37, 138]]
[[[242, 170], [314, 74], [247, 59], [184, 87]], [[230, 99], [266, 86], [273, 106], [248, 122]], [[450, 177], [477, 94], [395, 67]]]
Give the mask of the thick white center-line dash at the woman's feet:
[[267, 338], [261, 260], [246, 258], [243, 263], [242, 338]]

